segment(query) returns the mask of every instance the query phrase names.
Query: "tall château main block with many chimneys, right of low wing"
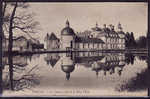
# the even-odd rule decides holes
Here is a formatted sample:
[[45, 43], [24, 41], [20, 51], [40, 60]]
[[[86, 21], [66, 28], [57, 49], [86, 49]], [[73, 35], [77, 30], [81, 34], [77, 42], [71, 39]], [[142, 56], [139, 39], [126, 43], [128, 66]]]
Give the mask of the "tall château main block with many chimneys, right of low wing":
[[118, 24], [118, 31], [114, 30], [112, 24], [109, 27], [104, 24], [103, 28], [98, 27], [98, 24], [96, 24], [96, 27], [92, 28], [92, 36], [105, 42], [104, 49], [125, 49], [125, 33], [122, 31], [120, 23]]

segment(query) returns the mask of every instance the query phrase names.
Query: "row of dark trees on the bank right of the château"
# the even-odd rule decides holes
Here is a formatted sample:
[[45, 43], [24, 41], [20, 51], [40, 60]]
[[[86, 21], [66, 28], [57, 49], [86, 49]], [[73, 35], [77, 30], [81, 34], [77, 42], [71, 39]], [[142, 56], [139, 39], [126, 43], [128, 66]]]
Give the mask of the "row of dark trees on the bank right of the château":
[[140, 36], [135, 39], [133, 32], [127, 32], [125, 34], [125, 46], [126, 48], [147, 48], [147, 37]]

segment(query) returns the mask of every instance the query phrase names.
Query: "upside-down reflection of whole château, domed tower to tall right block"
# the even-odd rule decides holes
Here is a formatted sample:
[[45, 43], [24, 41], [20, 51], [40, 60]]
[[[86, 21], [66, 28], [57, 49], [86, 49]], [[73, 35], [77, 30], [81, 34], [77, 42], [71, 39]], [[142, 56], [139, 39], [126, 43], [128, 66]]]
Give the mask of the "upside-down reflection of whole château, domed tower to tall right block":
[[[84, 53], [84, 54], [83, 54]], [[72, 53], [74, 55], [63, 55], [61, 60], [62, 71], [66, 73], [66, 79], [69, 80], [70, 73], [74, 71], [75, 64], [80, 64], [85, 67], [91, 68], [92, 71], [98, 73], [104, 71], [104, 75], [107, 72], [111, 74], [117, 72], [121, 75], [123, 67], [125, 66], [125, 55], [121, 53], [96, 53], [96, 52], [82, 52]], [[76, 55], [78, 54], [78, 55]], [[115, 71], [117, 68], [117, 71]]]

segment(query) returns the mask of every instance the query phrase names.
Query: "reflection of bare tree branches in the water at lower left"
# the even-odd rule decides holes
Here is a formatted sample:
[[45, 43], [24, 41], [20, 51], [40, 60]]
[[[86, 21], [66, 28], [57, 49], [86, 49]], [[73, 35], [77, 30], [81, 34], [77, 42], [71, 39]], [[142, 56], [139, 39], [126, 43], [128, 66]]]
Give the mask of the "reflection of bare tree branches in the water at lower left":
[[[34, 72], [38, 69], [38, 65], [34, 66], [30, 70], [26, 70], [27, 67], [27, 56], [13, 56], [13, 68], [12, 71], [7, 72], [5, 79], [3, 80], [3, 87], [5, 89], [10, 89], [19, 91], [24, 89], [30, 89], [35, 85], [39, 84], [39, 76]], [[9, 64], [6, 58], [5, 67]], [[9, 76], [11, 75], [11, 76]], [[19, 76], [19, 77], [18, 77]]]

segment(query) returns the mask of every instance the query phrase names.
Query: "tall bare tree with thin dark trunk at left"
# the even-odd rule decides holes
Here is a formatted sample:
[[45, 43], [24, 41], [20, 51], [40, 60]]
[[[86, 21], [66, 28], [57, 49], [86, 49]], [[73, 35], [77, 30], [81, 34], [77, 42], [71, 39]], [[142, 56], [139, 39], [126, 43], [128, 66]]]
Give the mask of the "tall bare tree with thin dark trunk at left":
[[[26, 13], [26, 9], [29, 7], [27, 3], [6, 3], [4, 2], [3, 7], [3, 30], [5, 33], [9, 34], [8, 43], [8, 62], [9, 62], [9, 72], [10, 72], [10, 86], [13, 90], [13, 58], [12, 58], [12, 48], [13, 48], [13, 34], [14, 32], [26, 33], [29, 37], [33, 38], [30, 33], [36, 33], [38, 30], [38, 22], [34, 21], [33, 14]], [[10, 11], [12, 9], [12, 11]], [[21, 11], [22, 10], [22, 11]], [[25, 11], [24, 11], [25, 10]]]

